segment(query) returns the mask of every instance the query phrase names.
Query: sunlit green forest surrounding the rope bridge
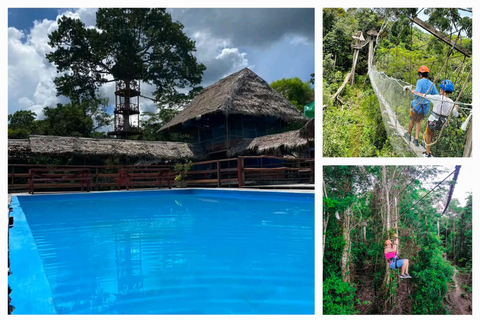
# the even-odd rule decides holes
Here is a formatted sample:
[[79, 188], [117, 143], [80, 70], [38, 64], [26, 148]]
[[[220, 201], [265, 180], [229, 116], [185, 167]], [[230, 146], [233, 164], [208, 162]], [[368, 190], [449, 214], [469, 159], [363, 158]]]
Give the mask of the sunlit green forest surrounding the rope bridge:
[[[379, 72], [399, 84], [415, 87], [418, 68], [426, 65], [430, 69], [429, 78], [437, 90], [444, 79], [454, 82], [456, 89], [451, 96], [452, 100], [458, 99], [458, 102], [467, 106], [460, 108], [458, 118], [449, 119], [449, 124], [438, 138], [438, 143], [432, 146], [432, 151], [435, 156], [462, 156], [467, 133], [461, 126], [470, 114], [471, 105], [468, 104], [472, 102], [472, 58], [452, 50], [452, 46], [413, 23], [410, 18], [420, 12], [424, 15], [422, 18], [425, 23], [457, 46], [471, 52], [471, 9], [323, 9], [322, 103], [325, 157], [412, 156], [401, 154], [392, 147], [392, 136], [387, 132], [386, 126], [382, 125], [379, 102], [368, 76], [368, 46], [359, 49], [358, 59], [354, 59], [355, 50], [352, 46], [355, 39], [352, 36], [362, 31], [367, 39], [370, 30], [378, 32], [378, 36], [374, 37], [373, 64]], [[354, 60], [356, 65], [353, 71]], [[348, 81], [342, 88], [349, 73], [353, 73], [352, 81]], [[398, 108], [395, 112], [399, 118], [406, 117], [407, 123], [400, 123], [406, 127], [409, 101], [413, 96], [410, 94], [403, 98], [402, 101], [407, 99], [406, 102], [394, 107]], [[428, 116], [422, 121], [420, 139], [426, 127], [426, 118]], [[468, 122], [465, 125], [468, 126]]]

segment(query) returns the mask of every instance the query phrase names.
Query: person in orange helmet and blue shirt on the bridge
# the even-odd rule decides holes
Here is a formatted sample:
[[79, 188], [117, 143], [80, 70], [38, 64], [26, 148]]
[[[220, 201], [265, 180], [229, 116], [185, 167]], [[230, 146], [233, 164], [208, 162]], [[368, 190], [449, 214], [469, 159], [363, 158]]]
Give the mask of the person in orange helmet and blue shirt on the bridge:
[[[433, 85], [432, 81], [428, 79], [429, 73], [430, 70], [426, 66], [421, 66], [418, 68], [418, 76], [420, 79], [417, 80], [415, 90], [420, 93], [438, 95], [437, 88], [435, 88], [435, 85]], [[414, 96], [412, 105], [410, 106], [410, 122], [408, 123], [408, 132], [405, 132], [405, 139], [410, 142], [413, 125], [415, 125], [415, 139], [413, 140], [413, 144], [417, 147], [419, 145], [418, 135], [420, 133], [420, 121], [422, 121], [423, 117], [428, 113], [429, 109], [430, 102], [428, 100], [422, 100], [422, 97], [419, 95]]]

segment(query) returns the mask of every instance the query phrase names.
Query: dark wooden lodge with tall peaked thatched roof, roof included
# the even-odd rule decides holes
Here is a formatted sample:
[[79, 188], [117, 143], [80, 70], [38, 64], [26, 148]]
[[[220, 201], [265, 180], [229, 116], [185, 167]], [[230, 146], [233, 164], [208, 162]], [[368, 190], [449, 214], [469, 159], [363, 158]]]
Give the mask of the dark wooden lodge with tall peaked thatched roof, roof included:
[[[245, 68], [205, 88], [160, 130], [188, 133], [210, 159], [221, 159], [251, 151], [241, 146], [258, 137], [279, 134], [293, 123], [302, 126], [307, 120], [265, 80]], [[299, 136], [290, 138], [297, 139], [293, 143], [297, 146], [306, 144]]]

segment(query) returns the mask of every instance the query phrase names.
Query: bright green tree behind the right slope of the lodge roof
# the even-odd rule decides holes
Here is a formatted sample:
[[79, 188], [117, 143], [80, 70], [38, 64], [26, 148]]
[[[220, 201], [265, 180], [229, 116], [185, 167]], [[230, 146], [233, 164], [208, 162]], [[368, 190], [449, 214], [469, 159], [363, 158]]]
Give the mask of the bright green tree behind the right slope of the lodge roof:
[[297, 77], [273, 81], [270, 86], [302, 112], [303, 107], [315, 99], [315, 94], [310, 86], [310, 82], [303, 82]]

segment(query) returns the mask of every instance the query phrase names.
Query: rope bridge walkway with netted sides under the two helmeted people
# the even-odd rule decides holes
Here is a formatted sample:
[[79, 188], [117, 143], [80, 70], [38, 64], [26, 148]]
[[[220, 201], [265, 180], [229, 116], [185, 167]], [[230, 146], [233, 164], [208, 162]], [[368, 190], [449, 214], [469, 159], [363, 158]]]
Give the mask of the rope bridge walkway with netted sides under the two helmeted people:
[[[413, 144], [413, 138], [412, 141], [407, 141], [404, 137], [410, 120], [409, 112], [413, 95], [410, 91], [405, 92], [403, 87], [411, 84], [392, 78], [384, 72], [378, 71], [373, 64], [374, 40], [372, 39], [369, 42], [368, 76], [380, 104], [382, 119], [389, 141], [397, 154], [401, 156], [421, 157], [422, 153], [425, 151], [425, 147], [422, 144], [415, 146]], [[468, 141], [466, 142], [466, 129], [468, 121], [471, 118], [472, 105], [460, 102], [457, 102], [456, 104], [459, 106], [459, 117], [450, 117], [442, 130], [441, 136], [438, 132], [436, 133], [434, 140], [438, 139], [438, 141], [435, 144], [431, 144], [431, 151], [436, 157], [470, 156], [470, 152], [465, 155], [464, 151], [466, 150], [464, 149], [466, 149], [466, 144], [470, 143]], [[421, 132], [418, 136], [419, 142], [423, 140], [427, 119], [428, 115], [426, 115], [421, 122]], [[425, 142], [423, 142], [423, 144], [424, 143]]]

